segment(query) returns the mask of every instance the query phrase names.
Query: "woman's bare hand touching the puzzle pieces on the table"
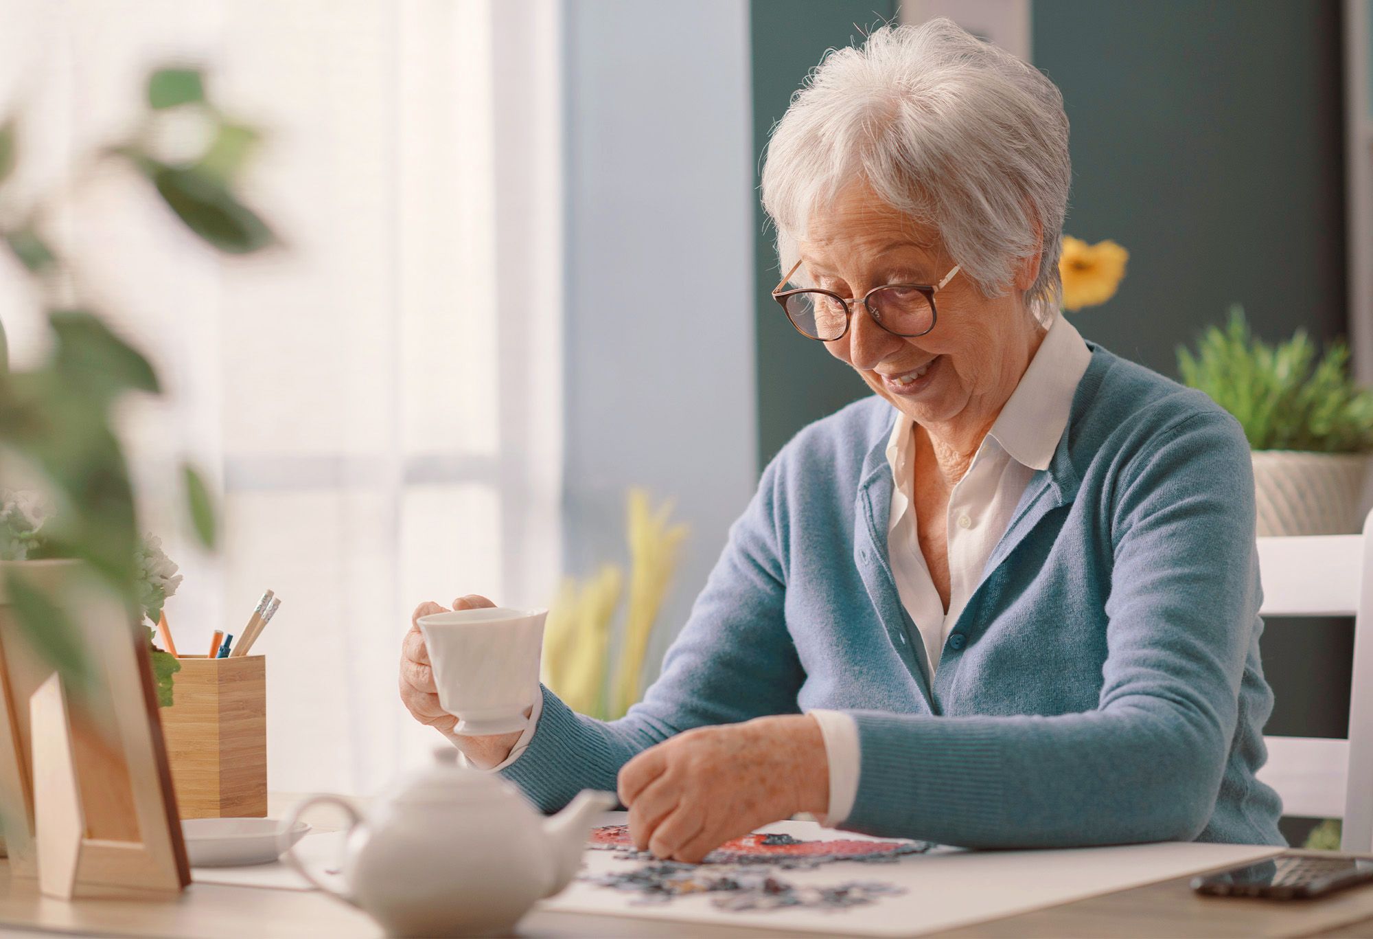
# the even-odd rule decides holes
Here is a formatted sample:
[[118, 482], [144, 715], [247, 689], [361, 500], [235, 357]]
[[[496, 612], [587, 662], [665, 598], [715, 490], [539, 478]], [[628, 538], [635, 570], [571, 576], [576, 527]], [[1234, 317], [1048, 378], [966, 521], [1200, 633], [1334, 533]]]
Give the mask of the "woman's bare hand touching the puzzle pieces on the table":
[[619, 770], [634, 847], [696, 863], [732, 837], [798, 811], [829, 810], [825, 740], [813, 717], [696, 728]]

